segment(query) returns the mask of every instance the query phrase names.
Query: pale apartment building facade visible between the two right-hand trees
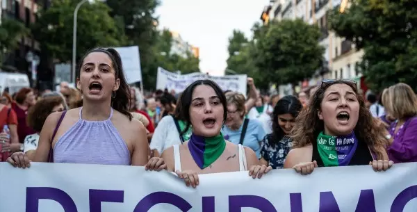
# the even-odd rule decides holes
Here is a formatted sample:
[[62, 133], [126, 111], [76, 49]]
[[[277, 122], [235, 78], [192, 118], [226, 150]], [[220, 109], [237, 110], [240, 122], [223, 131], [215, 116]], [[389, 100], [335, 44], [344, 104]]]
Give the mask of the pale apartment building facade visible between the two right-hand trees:
[[[317, 85], [322, 79], [354, 79], [360, 81], [361, 74], [356, 66], [363, 56], [354, 44], [345, 38], [339, 38], [329, 31], [328, 11], [339, 7], [341, 0], [271, 0], [262, 12], [264, 24], [270, 20], [301, 18], [309, 24], [317, 24], [322, 33], [320, 44], [325, 47], [325, 64], [329, 72], [316, 72], [309, 81], [301, 83], [302, 87]], [[268, 13], [268, 14], [265, 14]], [[268, 17], [268, 22], [265, 22]]]

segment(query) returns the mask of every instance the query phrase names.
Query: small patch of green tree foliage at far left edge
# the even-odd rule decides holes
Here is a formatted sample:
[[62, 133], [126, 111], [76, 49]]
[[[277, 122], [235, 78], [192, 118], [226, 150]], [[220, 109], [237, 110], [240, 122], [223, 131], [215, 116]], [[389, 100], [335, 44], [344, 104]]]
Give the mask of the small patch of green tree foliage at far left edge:
[[4, 61], [4, 54], [13, 51], [17, 47], [19, 38], [27, 35], [28, 28], [22, 22], [15, 19], [2, 19], [0, 24], [0, 63]]

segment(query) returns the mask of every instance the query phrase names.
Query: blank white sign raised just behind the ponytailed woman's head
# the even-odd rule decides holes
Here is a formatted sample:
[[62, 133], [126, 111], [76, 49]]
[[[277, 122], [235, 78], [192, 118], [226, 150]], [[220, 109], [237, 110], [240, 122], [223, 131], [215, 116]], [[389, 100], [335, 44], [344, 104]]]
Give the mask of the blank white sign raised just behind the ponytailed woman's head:
[[122, 58], [124, 76], [127, 83], [137, 83], [142, 81], [142, 69], [140, 68], [139, 47], [116, 47], [117, 52]]

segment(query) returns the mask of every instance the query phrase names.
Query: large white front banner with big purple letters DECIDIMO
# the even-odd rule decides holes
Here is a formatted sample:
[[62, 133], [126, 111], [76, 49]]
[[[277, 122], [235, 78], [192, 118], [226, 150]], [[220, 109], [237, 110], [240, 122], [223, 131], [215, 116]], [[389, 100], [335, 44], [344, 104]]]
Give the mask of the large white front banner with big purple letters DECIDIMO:
[[309, 176], [272, 170], [199, 175], [188, 188], [168, 172], [142, 167], [0, 163], [0, 211], [13, 212], [411, 212], [417, 209], [417, 163], [387, 172], [370, 166], [318, 168]]

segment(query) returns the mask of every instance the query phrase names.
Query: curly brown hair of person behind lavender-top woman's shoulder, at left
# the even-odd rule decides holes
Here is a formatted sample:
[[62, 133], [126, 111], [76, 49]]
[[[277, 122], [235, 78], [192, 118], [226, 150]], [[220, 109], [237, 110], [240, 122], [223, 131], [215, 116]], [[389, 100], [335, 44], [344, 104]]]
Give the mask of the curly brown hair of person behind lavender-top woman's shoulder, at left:
[[43, 124], [55, 106], [62, 104], [65, 108], [65, 101], [61, 96], [44, 97], [31, 106], [26, 117], [26, 124], [34, 131], [42, 131]]

